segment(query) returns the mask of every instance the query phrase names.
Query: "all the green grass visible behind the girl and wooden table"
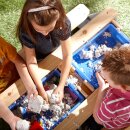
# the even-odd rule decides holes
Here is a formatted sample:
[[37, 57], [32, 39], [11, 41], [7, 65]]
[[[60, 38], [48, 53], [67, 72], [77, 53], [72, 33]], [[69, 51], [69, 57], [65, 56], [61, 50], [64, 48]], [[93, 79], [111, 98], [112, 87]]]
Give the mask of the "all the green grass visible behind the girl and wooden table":
[[[107, 7], [119, 13], [117, 21], [123, 26], [123, 32], [130, 37], [130, 1], [129, 0], [62, 0], [66, 12], [83, 3], [91, 13], [100, 12]], [[0, 0], [0, 35], [13, 44], [17, 50], [21, 48], [15, 37], [15, 31], [24, 0]]]

